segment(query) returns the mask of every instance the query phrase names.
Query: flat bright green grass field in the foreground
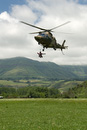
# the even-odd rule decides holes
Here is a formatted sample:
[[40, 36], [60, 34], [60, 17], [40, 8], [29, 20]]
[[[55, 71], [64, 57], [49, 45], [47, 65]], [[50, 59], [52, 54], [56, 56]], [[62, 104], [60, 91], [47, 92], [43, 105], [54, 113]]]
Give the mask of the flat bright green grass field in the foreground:
[[87, 100], [1, 99], [0, 130], [87, 130]]

